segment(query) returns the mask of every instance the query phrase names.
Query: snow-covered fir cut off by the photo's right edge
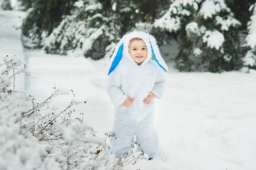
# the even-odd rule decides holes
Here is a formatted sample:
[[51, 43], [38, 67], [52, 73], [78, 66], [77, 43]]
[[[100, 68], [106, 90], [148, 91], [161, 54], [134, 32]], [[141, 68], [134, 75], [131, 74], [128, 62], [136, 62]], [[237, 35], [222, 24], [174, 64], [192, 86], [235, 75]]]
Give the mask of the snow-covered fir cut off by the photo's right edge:
[[248, 51], [243, 58], [243, 71], [249, 72], [250, 69], [256, 69], [256, 8], [252, 5], [250, 10], [253, 11], [251, 21], [248, 22], [248, 35], [246, 37]]

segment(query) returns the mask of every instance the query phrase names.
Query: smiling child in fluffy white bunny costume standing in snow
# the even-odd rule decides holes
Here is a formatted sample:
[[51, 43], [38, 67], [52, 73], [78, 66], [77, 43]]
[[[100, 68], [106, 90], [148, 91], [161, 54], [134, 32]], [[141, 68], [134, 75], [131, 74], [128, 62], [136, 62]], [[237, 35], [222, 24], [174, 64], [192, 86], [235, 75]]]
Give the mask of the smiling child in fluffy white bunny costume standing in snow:
[[[155, 60], [151, 60], [152, 56]], [[123, 58], [122, 62], [121, 59]], [[152, 159], [159, 142], [154, 129], [154, 98], [161, 98], [168, 71], [156, 40], [142, 31], [124, 35], [110, 59], [106, 89], [115, 107], [110, 149], [117, 158], [133, 154], [136, 142]]]

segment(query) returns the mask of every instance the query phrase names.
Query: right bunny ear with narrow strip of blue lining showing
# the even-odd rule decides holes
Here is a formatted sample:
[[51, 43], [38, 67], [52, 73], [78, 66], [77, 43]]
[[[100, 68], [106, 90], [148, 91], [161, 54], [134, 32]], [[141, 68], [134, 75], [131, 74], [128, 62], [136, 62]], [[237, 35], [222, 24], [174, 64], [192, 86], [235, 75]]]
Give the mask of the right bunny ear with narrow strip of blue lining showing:
[[150, 35], [149, 39], [150, 39], [151, 51], [152, 51], [152, 54], [153, 54], [153, 56], [155, 58], [155, 61], [157, 62], [157, 64], [162, 69], [164, 69], [165, 72], [167, 72], [168, 71], [168, 67], [167, 67], [166, 63], [164, 62], [164, 59], [162, 58], [162, 56], [160, 54], [160, 51], [159, 51], [159, 48], [158, 48], [157, 43], [155, 41], [155, 38]]

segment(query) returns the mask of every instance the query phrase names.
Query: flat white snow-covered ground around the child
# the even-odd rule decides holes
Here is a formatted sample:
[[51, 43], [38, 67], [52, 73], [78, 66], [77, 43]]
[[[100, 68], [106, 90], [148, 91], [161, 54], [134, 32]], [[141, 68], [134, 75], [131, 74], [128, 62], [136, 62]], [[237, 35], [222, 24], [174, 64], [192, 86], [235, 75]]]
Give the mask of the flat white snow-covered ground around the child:
[[[108, 60], [23, 50], [21, 31], [15, 28], [24, 15], [0, 10], [0, 63], [6, 54], [26, 61], [31, 75], [25, 89], [38, 102], [52, 93], [52, 87], [72, 89], [77, 100], [87, 101], [74, 107], [72, 116], [83, 113], [97, 135], [105, 136], [113, 123], [105, 89]], [[161, 150], [152, 161], [141, 160], [129, 170], [255, 170], [256, 74], [184, 73], [173, 69], [172, 60], [166, 62], [166, 88], [155, 108]], [[22, 80], [17, 82], [23, 86]], [[51, 105], [62, 110], [71, 98], [57, 96]]]

